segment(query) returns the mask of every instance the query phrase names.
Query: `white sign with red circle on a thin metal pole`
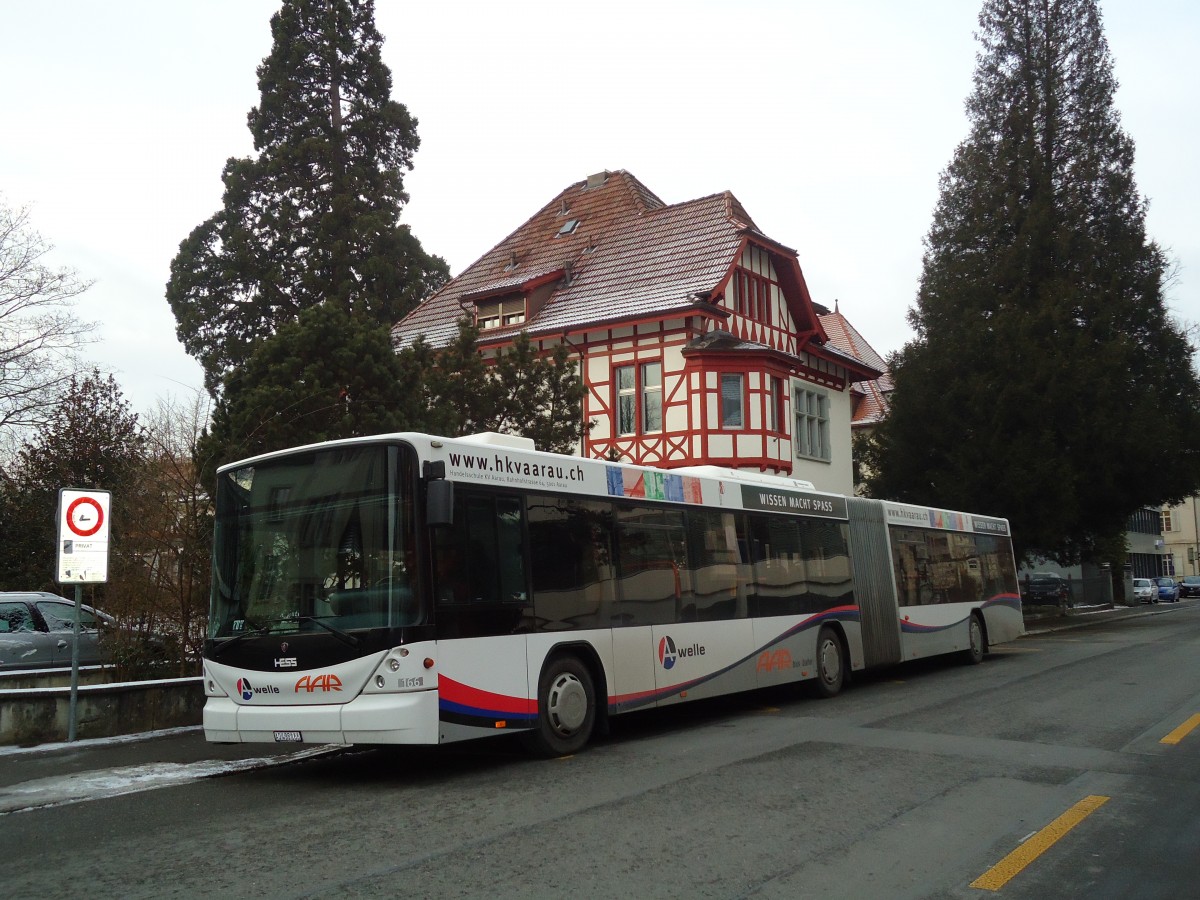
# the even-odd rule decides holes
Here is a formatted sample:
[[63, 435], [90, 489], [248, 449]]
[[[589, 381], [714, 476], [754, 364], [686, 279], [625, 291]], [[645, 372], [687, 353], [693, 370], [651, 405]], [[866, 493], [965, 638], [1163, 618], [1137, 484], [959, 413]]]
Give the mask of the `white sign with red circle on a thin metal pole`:
[[59, 583], [76, 586], [74, 641], [71, 646], [71, 716], [67, 740], [76, 739], [79, 696], [79, 607], [83, 586], [108, 581], [108, 532], [112, 494], [64, 487], [59, 491]]

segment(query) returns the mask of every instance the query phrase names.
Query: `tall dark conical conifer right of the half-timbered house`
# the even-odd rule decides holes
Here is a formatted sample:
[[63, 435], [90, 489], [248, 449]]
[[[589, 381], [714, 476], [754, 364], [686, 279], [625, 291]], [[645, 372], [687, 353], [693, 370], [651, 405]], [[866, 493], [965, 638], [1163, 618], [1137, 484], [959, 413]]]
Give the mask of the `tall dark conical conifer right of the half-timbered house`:
[[1072, 562], [1200, 487], [1200, 384], [1146, 235], [1094, 0], [985, 0], [868, 490]]

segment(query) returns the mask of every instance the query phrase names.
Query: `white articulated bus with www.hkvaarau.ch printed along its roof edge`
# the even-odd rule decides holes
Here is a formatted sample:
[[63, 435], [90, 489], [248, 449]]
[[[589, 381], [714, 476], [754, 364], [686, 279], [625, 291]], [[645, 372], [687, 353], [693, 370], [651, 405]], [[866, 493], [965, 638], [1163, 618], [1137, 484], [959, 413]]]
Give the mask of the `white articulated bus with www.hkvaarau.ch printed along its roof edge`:
[[1022, 634], [1003, 518], [398, 433], [220, 469], [211, 742], [546, 755], [612, 715]]

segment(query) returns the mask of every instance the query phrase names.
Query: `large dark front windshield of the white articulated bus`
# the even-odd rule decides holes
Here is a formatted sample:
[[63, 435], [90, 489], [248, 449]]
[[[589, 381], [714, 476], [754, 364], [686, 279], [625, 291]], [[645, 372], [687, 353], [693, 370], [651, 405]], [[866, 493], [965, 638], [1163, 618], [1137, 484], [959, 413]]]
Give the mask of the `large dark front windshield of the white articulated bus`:
[[344, 445], [221, 473], [209, 638], [420, 624], [413, 464]]

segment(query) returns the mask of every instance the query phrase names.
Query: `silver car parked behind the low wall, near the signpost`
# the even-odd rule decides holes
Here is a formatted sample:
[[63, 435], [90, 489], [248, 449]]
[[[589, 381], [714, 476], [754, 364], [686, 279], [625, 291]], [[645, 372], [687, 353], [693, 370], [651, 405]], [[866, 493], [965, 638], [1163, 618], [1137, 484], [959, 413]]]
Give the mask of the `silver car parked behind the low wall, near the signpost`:
[[[103, 661], [100, 631], [113, 618], [79, 607], [79, 665]], [[44, 592], [0, 592], [0, 671], [71, 665], [74, 602]]]

